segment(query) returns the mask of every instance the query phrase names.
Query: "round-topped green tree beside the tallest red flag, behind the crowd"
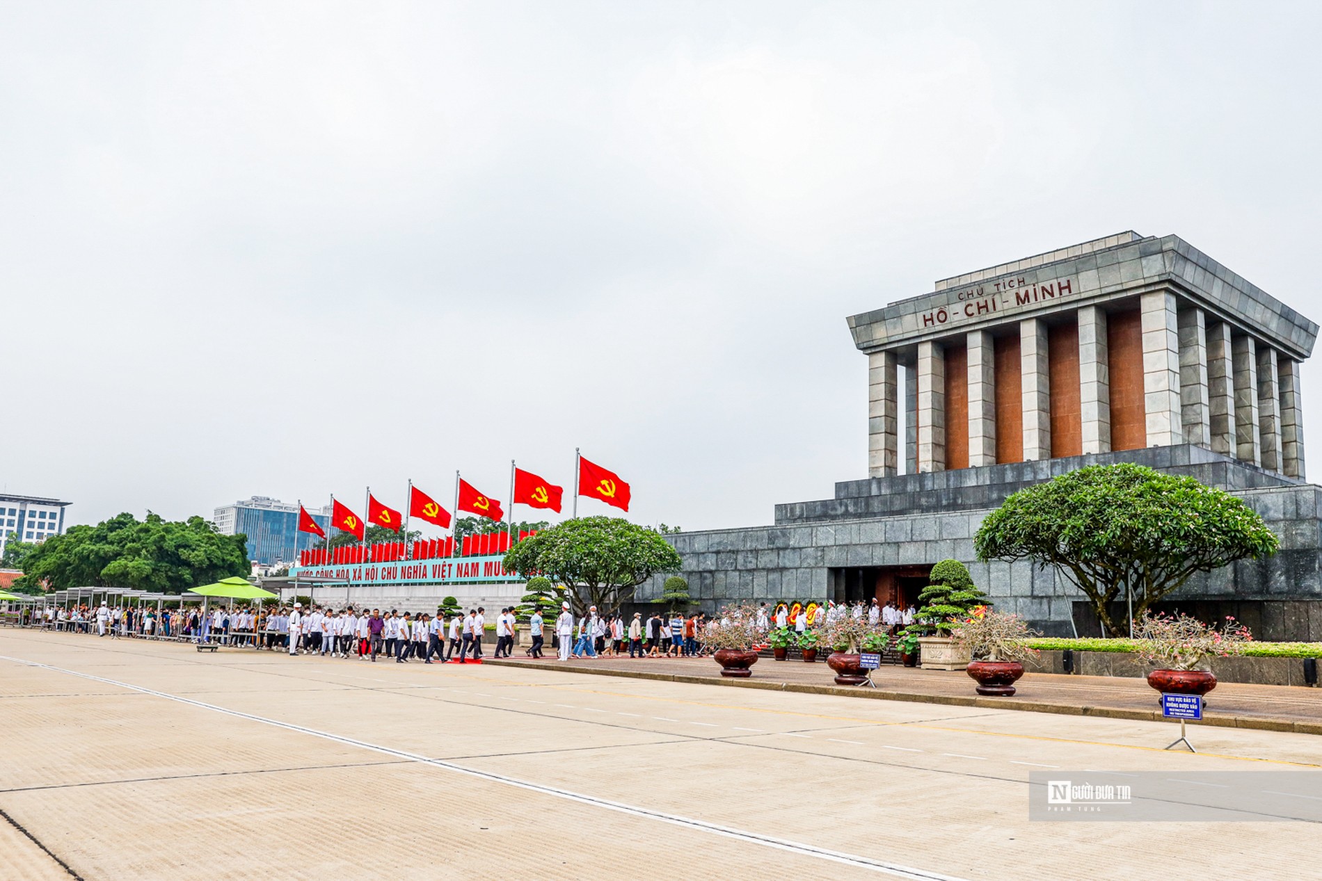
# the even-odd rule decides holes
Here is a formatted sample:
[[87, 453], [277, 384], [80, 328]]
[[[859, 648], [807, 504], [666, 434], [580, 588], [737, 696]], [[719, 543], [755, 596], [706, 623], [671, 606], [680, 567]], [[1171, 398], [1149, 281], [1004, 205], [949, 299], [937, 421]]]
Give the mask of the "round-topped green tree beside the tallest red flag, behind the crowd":
[[574, 612], [594, 605], [609, 614], [660, 572], [680, 569], [680, 555], [656, 530], [621, 518], [564, 520], [525, 539], [505, 555], [505, 568], [525, 579], [564, 584]]

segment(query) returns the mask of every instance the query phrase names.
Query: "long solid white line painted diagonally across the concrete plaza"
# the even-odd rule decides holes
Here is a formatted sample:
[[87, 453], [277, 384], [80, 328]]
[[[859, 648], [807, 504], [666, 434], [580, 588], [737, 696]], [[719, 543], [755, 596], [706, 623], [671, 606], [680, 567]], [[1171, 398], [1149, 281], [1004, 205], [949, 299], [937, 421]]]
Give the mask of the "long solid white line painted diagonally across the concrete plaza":
[[657, 811], [653, 808], [641, 807], [637, 804], [625, 804], [623, 802], [612, 802], [609, 799], [598, 798], [595, 795], [584, 795], [582, 793], [574, 793], [570, 790], [557, 789], [554, 786], [546, 786], [542, 783], [533, 783], [529, 781], [521, 781], [513, 777], [504, 777], [501, 774], [494, 774], [490, 771], [483, 771], [472, 767], [464, 767], [463, 765], [455, 765], [453, 762], [447, 762], [439, 758], [428, 758], [426, 756], [418, 756], [415, 753], [408, 753], [402, 749], [394, 749], [393, 746], [382, 746], [379, 744], [370, 744], [368, 741], [354, 740], [352, 737], [344, 737], [341, 734], [332, 734], [330, 732], [317, 730], [315, 728], [305, 728], [303, 725], [295, 725], [292, 722], [282, 722], [276, 719], [266, 719], [264, 716], [256, 716], [254, 713], [245, 713], [237, 709], [227, 709], [225, 707], [217, 707], [215, 704], [206, 704], [200, 700], [193, 700], [190, 697], [180, 697], [178, 695], [171, 695], [164, 691], [155, 691], [152, 688], [144, 688], [141, 686], [134, 686], [126, 682], [118, 682], [115, 679], [104, 679], [102, 676], [93, 676], [91, 674], [82, 674], [75, 670], [65, 670], [63, 667], [53, 667], [50, 664], [37, 663], [34, 660], [24, 660], [21, 658], [9, 658], [0, 655], [0, 660], [11, 660], [28, 667], [40, 667], [42, 670], [52, 670], [56, 672], [67, 674], [70, 676], [79, 676], [82, 679], [90, 679], [93, 682], [100, 682], [110, 686], [118, 686], [120, 688], [127, 688], [130, 691], [136, 691], [143, 695], [151, 695], [153, 697], [161, 697], [164, 700], [173, 700], [180, 704], [188, 704], [190, 707], [198, 707], [201, 709], [210, 709], [225, 716], [234, 716], [235, 719], [246, 719], [249, 721], [260, 722], [263, 725], [271, 725], [274, 728], [283, 728], [286, 730], [297, 732], [300, 734], [309, 734], [312, 737], [320, 737], [323, 740], [334, 741], [338, 744], [348, 744], [350, 746], [358, 746], [374, 753], [382, 753], [385, 756], [394, 756], [397, 758], [406, 758], [422, 765], [431, 765], [432, 767], [439, 767], [447, 771], [453, 771], [455, 774], [463, 774], [465, 777], [473, 777], [477, 779], [504, 783], [505, 786], [513, 786], [517, 789], [527, 790], [530, 793], [541, 793], [543, 795], [551, 795], [554, 798], [562, 798], [570, 802], [578, 802], [579, 804], [588, 804], [594, 807], [602, 807], [609, 811], [619, 811], [620, 814], [628, 814], [632, 816], [639, 816], [644, 819], [660, 820], [662, 823], [670, 823], [673, 826], [682, 826], [690, 829], [698, 829], [701, 832], [710, 832], [713, 835], [720, 835], [723, 837], [736, 839], [748, 844], [760, 844], [763, 847], [776, 848], [779, 851], [788, 851], [791, 853], [798, 853], [802, 856], [818, 857], [821, 860], [829, 860], [832, 863], [841, 863], [845, 865], [854, 865], [862, 869], [871, 869], [874, 872], [883, 872], [900, 878], [914, 878], [916, 881], [962, 881], [962, 878], [956, 878], [948, 874], [940, 874], [937, 872], [927, 872], [924, 869], [914, 869], [906, 865], [899, 865], [895, 863], [883, 863], [882, 860], [874, 860], [871, 857], [858, 856], [857, 853], [843, 853], [839, 851], [829, 851], [826, 848], [820, 848], [813, 844], [804, 844], [801, 841], [792, 841], [789, 839], [780, 839], [771, 835], [763, 835], [760, 832], [748, 832], [744, 829], [738, 829], [728, 826], [720, 826], [718, 823], [709, 823], [706, 820], [698, 820], [687, 816], [681, 816], [677, 814], [666, 814], [664, 811]]

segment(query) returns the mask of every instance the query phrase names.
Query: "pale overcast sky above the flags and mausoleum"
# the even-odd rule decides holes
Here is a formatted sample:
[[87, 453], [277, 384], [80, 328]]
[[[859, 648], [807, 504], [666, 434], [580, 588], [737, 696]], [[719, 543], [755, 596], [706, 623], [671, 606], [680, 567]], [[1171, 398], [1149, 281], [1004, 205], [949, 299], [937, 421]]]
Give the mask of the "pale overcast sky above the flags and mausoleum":
[[1311, 4], [0, 11], [0, 483], [73, 522], [582, 446], [769, 523], [866, 476], [846, 316], [1129, 229], [1322, 318]]

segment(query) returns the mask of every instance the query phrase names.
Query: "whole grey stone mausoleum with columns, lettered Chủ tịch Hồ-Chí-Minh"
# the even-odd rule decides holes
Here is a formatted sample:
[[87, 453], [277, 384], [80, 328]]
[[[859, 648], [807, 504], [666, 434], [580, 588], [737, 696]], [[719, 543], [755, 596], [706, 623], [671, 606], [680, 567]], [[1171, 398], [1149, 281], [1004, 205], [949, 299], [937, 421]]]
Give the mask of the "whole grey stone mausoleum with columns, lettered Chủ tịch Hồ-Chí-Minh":
[[903, 606], [954, 557], [997, 608], [1097, 634], [1072, 585], [978, 563], [973, 534], [1017, 489], [1132, 461], [1233, 493], [1281, 538], [1276, 556], [1198, 576], [1158, 608], [1322, 639], [1322, 490], [1305, 482], [1300, 403], [1318, 326], [1280, 300], [1174, 235], [1122, 232], [944, 279], [849, 328], [867, 357], [867, 478], [777, 505], [773, 526], [673, 536], [705, 609]]

